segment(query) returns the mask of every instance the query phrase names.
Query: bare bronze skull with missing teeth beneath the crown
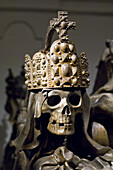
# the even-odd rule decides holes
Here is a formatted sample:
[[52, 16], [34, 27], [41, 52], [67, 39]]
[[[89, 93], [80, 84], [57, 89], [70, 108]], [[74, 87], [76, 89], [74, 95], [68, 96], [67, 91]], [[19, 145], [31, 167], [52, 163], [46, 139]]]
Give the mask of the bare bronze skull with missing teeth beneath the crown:
[[50, 113], [47, 129], [56, 135], [75, 133], [75, 115], [82, 104], [80, 90], [51, 90], [42, 105], [42, 113]]

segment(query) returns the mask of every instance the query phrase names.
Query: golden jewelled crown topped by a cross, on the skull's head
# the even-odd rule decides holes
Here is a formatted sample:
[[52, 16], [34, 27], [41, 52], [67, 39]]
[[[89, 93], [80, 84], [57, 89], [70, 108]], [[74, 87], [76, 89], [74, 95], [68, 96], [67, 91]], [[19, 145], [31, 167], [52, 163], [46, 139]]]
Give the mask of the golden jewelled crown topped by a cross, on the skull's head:
[[[42, 88], [89, 86], [87, 57], [84, 52], [78, 57], [75, 45], [69, 41], [68, 30], [75, 29], [75, 22], [68, 21], [68, 13], [58, 12], [58, 18], [50, 21], [45, 49], [31, 57], [25, 55], [25, 84], [28, 90]], [[51, 45], [54, 31], [59, 39]]]

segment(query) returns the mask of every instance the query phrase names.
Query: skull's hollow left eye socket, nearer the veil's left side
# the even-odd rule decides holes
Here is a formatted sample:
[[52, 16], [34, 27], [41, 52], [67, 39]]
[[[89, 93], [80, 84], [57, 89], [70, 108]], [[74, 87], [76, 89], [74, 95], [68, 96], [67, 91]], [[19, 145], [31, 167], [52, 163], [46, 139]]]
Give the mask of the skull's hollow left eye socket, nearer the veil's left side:
[[57, 105], [58, 103], [60, 103], [61, 101], [61, 98], [59, 95], [53, 95], [53, 96], [50, 96], [48, 99], [47, 99], [47, 104], [49, 106], [55, 106]]

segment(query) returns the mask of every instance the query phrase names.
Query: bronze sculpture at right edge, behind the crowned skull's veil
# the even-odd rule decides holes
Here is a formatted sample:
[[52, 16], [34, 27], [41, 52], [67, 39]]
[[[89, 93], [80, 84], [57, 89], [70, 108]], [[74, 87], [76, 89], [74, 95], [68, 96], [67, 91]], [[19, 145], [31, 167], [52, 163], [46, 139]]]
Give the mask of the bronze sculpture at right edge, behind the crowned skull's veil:
[[[97, 142], [113, 148], [113, 40], [107, 40], [105, 44], [106, 48], [99, 62], [93, 94], [90, 96], [89, 133], [91, 134], [92, 129], [94, 132], [91, 136]], [[103, 73], [104, 76], [102, 76]]]

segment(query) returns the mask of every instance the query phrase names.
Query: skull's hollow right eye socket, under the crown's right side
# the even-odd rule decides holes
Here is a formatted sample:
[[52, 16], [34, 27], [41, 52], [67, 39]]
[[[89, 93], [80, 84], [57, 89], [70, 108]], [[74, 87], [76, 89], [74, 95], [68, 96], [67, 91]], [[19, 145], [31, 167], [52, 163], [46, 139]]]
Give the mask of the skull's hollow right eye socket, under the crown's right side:
[[78, 94], [71, 94], [69, 96], [69, 103], [72, 105], [72, 106], [80, 106], [81, 104], [81, 98], [80, 98], [80, 95]]

